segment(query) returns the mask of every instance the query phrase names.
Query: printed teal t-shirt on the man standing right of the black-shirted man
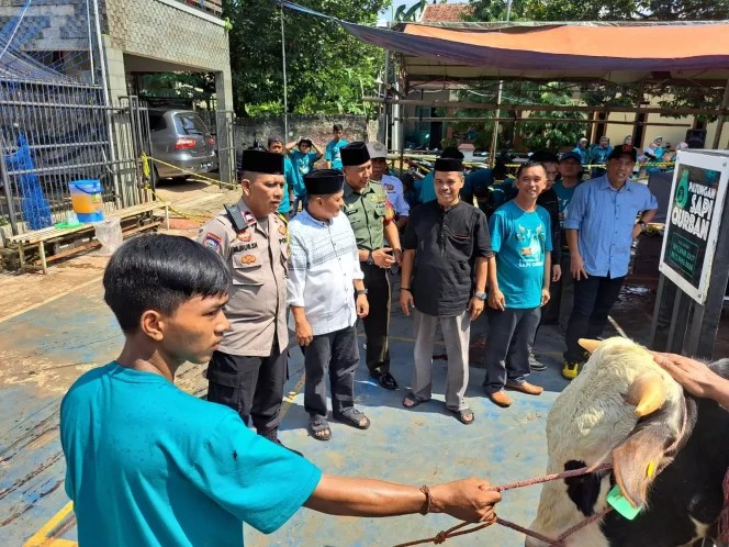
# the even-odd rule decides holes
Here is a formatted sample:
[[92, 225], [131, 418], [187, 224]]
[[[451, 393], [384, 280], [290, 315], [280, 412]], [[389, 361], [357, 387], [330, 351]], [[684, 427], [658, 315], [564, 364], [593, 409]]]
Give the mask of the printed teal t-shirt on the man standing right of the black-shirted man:
[[552, 250], [549, 213], [537, 205], [527, 213], [515, 201], [500, 206], [489, 220], [491, 246], [496, 253], [496, 279], [506, 308], [539, 308], [545, 280], [545, 256]]

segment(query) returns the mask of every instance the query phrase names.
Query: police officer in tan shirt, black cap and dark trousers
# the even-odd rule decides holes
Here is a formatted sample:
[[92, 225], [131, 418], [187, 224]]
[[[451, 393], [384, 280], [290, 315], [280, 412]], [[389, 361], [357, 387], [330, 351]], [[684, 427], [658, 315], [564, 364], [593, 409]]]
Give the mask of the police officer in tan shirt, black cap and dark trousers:
[[259, 435], [278, 439], [288, 371], [288, 225], [276, 213], [283, 198], [283, 156], [242, 155], [243, 197], [202, 226], [198, 241], [218, 253], [233, 276], [225, 306], [231, 328], [208, 366], [208, 400], [253, 418]]

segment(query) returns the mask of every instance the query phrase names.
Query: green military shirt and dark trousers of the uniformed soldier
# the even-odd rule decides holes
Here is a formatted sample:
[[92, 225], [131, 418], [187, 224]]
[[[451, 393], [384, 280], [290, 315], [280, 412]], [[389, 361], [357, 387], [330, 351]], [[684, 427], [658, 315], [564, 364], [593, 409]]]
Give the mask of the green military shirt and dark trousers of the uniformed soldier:
[[[380, 182], [369, 181], [357, 192], [345, 183], [343, 211], [355, 232], [357, 248], [377, 250], [384, 247], [384, 226], [395, 219], [388, 193]], [[367, 335], [367, 367], [370, 372], [390, 372], [390, 279], [388, 270], [367, 261], [360, 263], [368, 290], [370, 313], [362, 320]]]

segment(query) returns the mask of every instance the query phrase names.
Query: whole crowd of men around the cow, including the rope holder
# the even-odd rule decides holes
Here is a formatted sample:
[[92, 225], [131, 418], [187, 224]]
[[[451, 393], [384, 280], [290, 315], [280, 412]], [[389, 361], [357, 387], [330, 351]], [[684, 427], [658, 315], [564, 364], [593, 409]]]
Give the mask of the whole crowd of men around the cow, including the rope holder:
[[[343, 144], [335, 127], [324, 154], [327, 168], [314, 169], [322, 150], [306, 138], [244, 150], [242, 198], [203, 225], [197, 243], [141, 236], [112, 256], [104, 300], [124, 348], [61, 403], [65, 487], [82, 545], [239, 546], [242, 522], [270, 533], [302, 506], [495, 521], [501, 495], [486, 481], [417, 488], [323, 475], [283, 447], [289, 330], [304, 353], [304, 409], [319, 442], [333, 438], [327, 373], [334, 421], [371, 426], [355, 406], [358, 320], [370, 376], [397, 388], [388, 347], [394, 265], [416, 341], [405, 409], [431, 400], [439, 324], [446, 406], [474, 423], [463, 395], [470, 325], [481, 315], [490, 327], [483, 389], [495, 404], [512, 403], [507, 389], [541, 393], [527, 378], [543, 369], [531, 348], [545, 321], [565, 327], [562, 373], [575, 378], [586, 359], [577, 341], [602, 333], [631, 243], [657, 209], [648, 188], [630, 180], [637, 152], [610, 150], [605, 175], [587, 181], [580, 154], [537, 152], [513, 181], [497, 183], [493, 172], [469, 180], [458, 150], [445, 150], [427, 182], [435, 198], [412, 210], [381, 144]], [[494, 194], [495, 209], [484, 199]], [[175, 387], [188, 361], [208, 364], [208, 401]], [[686, 370], [703, 367], [662, 365], [684, 383]]]

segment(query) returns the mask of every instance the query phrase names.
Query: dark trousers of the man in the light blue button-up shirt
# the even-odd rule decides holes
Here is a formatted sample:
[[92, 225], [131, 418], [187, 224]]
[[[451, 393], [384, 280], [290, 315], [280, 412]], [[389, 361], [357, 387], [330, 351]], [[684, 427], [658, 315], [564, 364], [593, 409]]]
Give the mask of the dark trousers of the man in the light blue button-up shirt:
[[[609, 276], [609, 274], [608, 274]], [[567, 351], [564, 359], [570, 362], [584, 360], [584, 349], [580, 338], [597, 338], [603, 334], [607, 323], [607, 314], [620, 294], [625, 276], [609, 277], [590, 276], [587, 279], [574, 280], [574, 304], [567, 325], [564, 342]]]

